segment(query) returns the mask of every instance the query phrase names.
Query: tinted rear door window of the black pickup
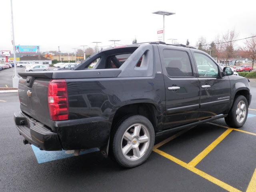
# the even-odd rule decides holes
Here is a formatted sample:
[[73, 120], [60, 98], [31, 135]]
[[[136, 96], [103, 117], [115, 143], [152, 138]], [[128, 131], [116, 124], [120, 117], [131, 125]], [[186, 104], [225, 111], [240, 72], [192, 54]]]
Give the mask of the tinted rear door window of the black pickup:
[[172, 77], [193, 76], [188, 53], [178, 50], [164, 50], [164, 64], [167, 74]]

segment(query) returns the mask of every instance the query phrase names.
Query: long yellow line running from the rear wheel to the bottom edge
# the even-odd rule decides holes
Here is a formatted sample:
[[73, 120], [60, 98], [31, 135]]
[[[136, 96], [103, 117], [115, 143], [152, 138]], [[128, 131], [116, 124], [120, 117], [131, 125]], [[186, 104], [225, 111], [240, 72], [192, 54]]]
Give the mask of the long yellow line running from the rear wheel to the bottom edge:
[[165, 158], [168, 158], [169, 160], [172, 160], [173, 162], [179, 164], [180, 166], [182, 166], [182, 167], [184, 167], [184, 168], [194, 172], [195, 174], [198, 174], [199, 176], [201, 176], [201, 177], [205, 178], [206, 180], [208, 180], [208, 181], [210, 181], [210, 182], [220, 186], [221, 188], [224, 188], [225, 190], [227, 190], [229, 192], [241, 192], [240, 190], [238, 190], [238, 189], [236, 189], [236, 188], [234, 188], [234, 187], [232, 187], [232, 186], [222, 182], [221, 180], [218, 180], [218, 179], [214, 178], [213, 176], [210, 176], [207, 173], [202, 172], [199, 169], [194, 168], [194, 167], [186, 164], [185, 162], [183, 162], [183, 161], [181, 161], [181, 160], [179, 160], [179, 159], [177, 159], [177, 158], [175, 158], [175, 157], [173, 157], [173, 156], [171, 156], [171, 155], [169, 155], [169, 154], [167, 154], [167, 153], [165, 153], [165, 152], [163, 152], [161, 150], [153, 148], [153, 151], [158, 153], [158, 154], [160, 154], [160, 155], [162, 155], [162, 156], [164, 156]]

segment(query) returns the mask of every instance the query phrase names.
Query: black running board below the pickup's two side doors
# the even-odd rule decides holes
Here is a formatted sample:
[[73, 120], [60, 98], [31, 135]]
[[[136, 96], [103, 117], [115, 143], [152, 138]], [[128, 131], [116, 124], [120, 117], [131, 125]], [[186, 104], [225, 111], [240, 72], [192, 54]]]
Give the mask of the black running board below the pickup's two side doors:
[[180, 127], [171, 128], [171, 129], [168, 129], [168, 130], [164, 130], [164, 131], [161, 131], [161, 132], [157, 132], [157, 133], [156, 133], [156, 137], [157, 137], [157, 136], [160, 136], [160, 135], [164, 135], [164, 134], [176, 132], [176, 131], [182, 130], [182, 129], [187, 128], [187, 127], [190, 127], [190, 126], [195, 126], [195, 125], [199, 125], [199, 124], [202, 124], [202, 123], [206, 123], [206, 122], [209, 122], [209, 121], [212, 121], [212, 120], [220, 119], [220, 118], [223, 118], [223, 117], [226, 117], [226, 116], [228, 116], [228, 114], [225, 114], [225, 115], [223, 115], [223, 114], [222, 114], [222, 115], [217, 115], [217, 116], [214, 116], [214, 117], [211, 117], [211, 118], [208, 118], [208, 119], [204, 119], [204, 120], [201, 120], [201, 121], [198, 121], [198, 122], [194, 122], [194, 123], [182, 125], [182, 126], [180, 126]]

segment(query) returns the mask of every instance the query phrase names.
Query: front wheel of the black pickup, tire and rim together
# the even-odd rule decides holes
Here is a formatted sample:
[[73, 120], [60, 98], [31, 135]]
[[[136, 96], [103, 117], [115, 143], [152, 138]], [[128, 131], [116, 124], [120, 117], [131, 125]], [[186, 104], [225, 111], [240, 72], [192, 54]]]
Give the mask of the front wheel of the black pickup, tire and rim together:
[[225, 117], [225, 122], [230, 127], [240, 128], [246, 122], [247, 114], [248, 102], [244, 96], [240, 95], [234, 100], [228, 116]]

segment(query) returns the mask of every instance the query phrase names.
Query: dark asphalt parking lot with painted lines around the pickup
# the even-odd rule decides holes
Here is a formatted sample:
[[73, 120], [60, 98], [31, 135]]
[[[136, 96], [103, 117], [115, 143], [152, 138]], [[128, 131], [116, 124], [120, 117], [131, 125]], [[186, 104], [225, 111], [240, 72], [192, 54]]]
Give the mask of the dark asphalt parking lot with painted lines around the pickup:
[[[8, 69], [10, 70], [10, 69]], [[0, 71], [2, 80], [13, 68]], [[18, 68], [24, 70], [24, 68]], [[6, 77], [7, 79], [7, 77]], [[150, 158], [124, 169], [97, 148], [73, 156], [24, 145], [14, 125], [18, 93], [0, 93], [0, 191], [256, 191], [256, 81], [252, 102], [240, 129], [224, 118], [156, 138]]]

